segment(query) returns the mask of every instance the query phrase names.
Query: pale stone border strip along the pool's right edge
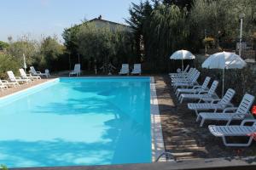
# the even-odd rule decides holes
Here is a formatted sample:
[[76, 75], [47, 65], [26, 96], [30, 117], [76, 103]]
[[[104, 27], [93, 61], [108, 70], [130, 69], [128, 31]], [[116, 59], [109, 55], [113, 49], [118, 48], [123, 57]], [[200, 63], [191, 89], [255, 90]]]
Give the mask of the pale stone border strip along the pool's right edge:
[[[151, 117], [151, 142], [152, 142], [152, 162], [165, 152], [165, 144], [160, 121], [160, 111], [155, 89], [154, 77], [150, 77], [150, 117]], [[166, 161], [165, 156], [159, 161]]]

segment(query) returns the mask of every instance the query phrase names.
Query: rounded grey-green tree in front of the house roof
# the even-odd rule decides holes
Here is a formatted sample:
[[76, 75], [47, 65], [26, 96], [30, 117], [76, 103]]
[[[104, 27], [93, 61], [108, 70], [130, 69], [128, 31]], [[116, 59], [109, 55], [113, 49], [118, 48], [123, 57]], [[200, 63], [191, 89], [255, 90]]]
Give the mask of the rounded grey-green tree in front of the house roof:
[[99, 67], [110, 63], [119, 65], [125, 56], [133, 55], [131, 35], [121, 27], [111, 29], [87, 23], [80, 26], [78, 40], [79, 54], [87, 61], [89, 70], [95, 64]]

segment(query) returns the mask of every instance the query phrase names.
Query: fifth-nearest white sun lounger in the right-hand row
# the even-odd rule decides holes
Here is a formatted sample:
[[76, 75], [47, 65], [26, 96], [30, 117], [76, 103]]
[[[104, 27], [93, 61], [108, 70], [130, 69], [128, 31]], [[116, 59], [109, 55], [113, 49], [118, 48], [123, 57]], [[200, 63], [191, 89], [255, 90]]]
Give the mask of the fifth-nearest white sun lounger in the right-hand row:
[[206, 77], [205, 81], [203, 82], [203, 84], [200, 86], [194, 86], [193, 88], [177, 88], [176, 90], [176, 95], [177, 97], [179, 96], [179, 94], [197, 94], [199, 92], [201, 92], [202, 90], [208, 90], [208, 84], [210, 82], [211, 78], [210, 77]]

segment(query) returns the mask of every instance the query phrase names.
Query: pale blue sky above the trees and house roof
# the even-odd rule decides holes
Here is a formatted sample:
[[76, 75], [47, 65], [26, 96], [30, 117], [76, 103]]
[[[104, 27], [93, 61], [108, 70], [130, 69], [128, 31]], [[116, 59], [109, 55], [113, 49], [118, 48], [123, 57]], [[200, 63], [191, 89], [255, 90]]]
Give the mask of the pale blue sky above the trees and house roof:
[[8, 42], [9, 36], [39, 40], [42, 35], [57, 35], [63, 42], [64, 28], [100, 14], [103, 20], [124, 24], [131, 2], [140, 0], [0, 0], [0, 41]]

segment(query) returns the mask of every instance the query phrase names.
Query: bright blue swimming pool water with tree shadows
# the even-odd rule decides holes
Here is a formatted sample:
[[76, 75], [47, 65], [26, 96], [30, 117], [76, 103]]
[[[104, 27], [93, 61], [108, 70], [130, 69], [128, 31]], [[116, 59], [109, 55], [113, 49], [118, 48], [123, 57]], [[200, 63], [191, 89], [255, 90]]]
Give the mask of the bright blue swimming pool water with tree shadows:
[[61, 78], [0, 99], [0, 164], [151, 162], [149, 78]]

